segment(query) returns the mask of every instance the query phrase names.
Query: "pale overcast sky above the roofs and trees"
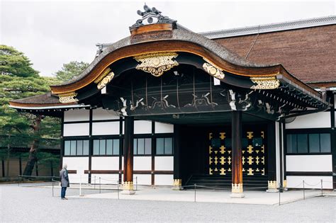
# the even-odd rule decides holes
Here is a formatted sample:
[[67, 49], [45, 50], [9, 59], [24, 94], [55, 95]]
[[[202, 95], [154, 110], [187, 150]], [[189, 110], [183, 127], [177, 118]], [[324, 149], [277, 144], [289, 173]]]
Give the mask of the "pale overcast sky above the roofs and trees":
[[[335, 1], [146, 1], [194, 32], [335, 15]], [[91, 62], [97, 42], [116, 42], [144, 1], [0, 0], [0, 44], [24, 52], [51, 76], [72, 60]]]

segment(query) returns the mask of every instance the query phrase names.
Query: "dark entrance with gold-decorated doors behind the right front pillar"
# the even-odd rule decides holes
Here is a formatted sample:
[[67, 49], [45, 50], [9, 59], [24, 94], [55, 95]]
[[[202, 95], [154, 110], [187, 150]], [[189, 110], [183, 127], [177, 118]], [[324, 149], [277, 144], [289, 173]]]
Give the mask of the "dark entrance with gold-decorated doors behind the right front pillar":
[[[181, 175], [184, 184], [231, 188], [231, 134], [230, 125], [182, 125]], [[267, 187], [268, 144], [267, 122], [243, 125], [245, 188]]]

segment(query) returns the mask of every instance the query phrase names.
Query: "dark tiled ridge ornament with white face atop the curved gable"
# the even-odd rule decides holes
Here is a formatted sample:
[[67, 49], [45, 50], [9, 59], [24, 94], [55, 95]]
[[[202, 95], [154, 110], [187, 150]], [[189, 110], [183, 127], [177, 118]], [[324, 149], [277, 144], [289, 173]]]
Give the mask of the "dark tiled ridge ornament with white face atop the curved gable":
[[172, 23], [175, 24], [177, 23], [176, 20], [173, 20], [169, 18], [168, 16], [163, 16], [161, 14], [161, 11], [159, 11], [157, 8], [152, 7], [150, 8], [145, 4], [143, 6], [143, 9], [145, 11], [140, 11], [138, 10], [137, 13], [139, 16], [142, 16], [142, 18], [138, 19], [134, 25], [132, 25], [130, 28], [137, 28], [142, 25], [150, 25], [150, 24], [155, 24], [155, 23]]

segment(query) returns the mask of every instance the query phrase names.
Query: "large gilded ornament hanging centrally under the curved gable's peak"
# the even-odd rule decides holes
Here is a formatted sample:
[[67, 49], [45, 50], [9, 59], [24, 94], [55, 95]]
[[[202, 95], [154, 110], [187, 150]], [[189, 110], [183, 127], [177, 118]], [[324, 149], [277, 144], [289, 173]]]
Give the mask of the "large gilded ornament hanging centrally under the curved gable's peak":
[[179, 63], [173, 58], [178, 55], [175, 52], [155, 52], [146, 55], [134, 57], [136, 61], [141, 62], [136, 69], [150, 73], [153, 76], [161, 76], [164, 72], [169, 71], [172, 67], [178, 66]]

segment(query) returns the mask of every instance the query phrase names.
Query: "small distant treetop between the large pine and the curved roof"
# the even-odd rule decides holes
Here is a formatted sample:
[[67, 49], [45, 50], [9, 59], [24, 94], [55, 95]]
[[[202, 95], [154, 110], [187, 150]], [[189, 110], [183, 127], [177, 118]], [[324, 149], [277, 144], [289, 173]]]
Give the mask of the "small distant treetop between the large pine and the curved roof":
[[88, 66], [89, 64], [86, 62], [72, 61], [68, 64], [63, 64], [62, 69], [56, 72], [55, 76], [60, 81], [69, 81], [74, 76], [81, 74]]

